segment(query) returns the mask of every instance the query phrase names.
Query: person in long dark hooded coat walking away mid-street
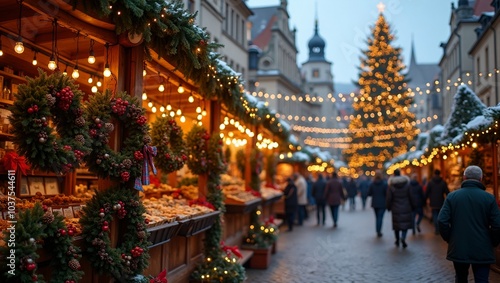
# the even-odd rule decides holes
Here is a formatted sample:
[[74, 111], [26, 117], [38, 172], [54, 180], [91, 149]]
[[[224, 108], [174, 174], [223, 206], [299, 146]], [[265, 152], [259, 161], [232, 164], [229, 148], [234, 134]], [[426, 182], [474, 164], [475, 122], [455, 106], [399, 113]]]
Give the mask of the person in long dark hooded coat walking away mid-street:
[[[394, 176], [389, 181], [389, 189], [387, 190], [386, 205], [387, 210], [392, 213], [392, 229], [396, 236], [396, 246], [401, 244], [406, 248], [406, 234], [408, 229], [413, 227], [413, 202], [410, 194], [410, 178], [402, 176], [401, 172], [396, 169]], [[401, 233], [401, 237], [400, 237]]]

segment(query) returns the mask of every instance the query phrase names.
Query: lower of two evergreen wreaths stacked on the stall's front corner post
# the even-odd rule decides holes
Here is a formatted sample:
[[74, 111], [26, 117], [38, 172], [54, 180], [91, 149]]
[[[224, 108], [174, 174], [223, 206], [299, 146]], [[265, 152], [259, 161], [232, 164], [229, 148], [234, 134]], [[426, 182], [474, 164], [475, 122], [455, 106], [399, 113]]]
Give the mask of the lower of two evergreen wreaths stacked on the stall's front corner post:
[[[87, 202], [80, 218], [86, 242], [83, 252], [99, 273], [130, 282], [148, 266], [145, 211], [137, 192], [120, 187], [96, 191]], [[116, 232], [121, 239], [115, 248], [109, 236], [113, 221], [119, 222]]]

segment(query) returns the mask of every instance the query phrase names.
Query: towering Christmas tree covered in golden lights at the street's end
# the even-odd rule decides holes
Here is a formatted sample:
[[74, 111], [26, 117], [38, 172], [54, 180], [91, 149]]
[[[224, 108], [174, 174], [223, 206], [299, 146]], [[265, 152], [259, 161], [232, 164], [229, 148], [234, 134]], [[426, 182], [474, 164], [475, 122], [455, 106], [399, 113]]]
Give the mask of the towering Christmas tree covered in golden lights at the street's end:
[[408, 151], [418, 134], [413, 103], [401, 48], [391, 45], [394, 34], [380, 13], [368, 48], [363, 51], [359, 67], [359, 96], [353, 102], [353, 118], [349, 124], [351, 145], [344, 156], [353, 172], [383, 169], [395, 156]]

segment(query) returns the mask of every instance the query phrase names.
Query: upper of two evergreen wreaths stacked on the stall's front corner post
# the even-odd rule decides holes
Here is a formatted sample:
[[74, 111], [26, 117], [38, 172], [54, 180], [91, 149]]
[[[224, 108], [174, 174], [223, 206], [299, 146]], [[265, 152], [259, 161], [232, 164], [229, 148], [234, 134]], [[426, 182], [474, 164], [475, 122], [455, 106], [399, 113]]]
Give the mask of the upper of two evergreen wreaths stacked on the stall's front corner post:
[[[87, 117], [90, 119], [89, 134], [93, 150], [86, 161], [91, 172], [122, 183], [137, 182], [143, 175], [146, 158], [144, 147], [151, 142], [144, 114], [138, 99], [126, 92], [118, 92], [113, 96], [110, 90], [106, 90], [103, 94], [96, 93], [90, 97]], [[123, 143], [119, 152], [108, 145], [115, 121], [122, 125]]]

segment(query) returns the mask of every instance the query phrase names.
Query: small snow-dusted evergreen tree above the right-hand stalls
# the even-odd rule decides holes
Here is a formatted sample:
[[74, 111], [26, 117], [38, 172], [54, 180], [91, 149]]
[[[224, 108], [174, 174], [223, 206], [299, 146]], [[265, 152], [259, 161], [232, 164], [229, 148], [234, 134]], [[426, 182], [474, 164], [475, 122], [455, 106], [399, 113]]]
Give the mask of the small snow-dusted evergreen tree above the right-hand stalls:
[[444, 124], [441, 144], [448, 145], [453, 142], [454, 138], [460, 137], [467, 123], [483, 115], [484, 109], [486, 106], [479, 97], [467, 85], [460, 85], [453, 97], [451, 115]]

